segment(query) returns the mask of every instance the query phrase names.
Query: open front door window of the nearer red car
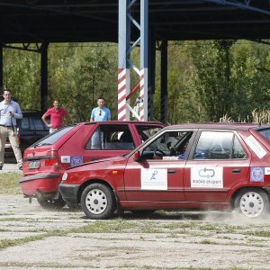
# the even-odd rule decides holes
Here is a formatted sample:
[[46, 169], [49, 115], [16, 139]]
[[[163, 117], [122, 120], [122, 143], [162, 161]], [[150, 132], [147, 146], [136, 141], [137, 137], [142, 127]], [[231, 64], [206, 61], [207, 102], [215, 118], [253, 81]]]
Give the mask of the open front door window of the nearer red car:
[[144, 159], [183, 159], [193, 131], [166, 131], [141, 153]]

